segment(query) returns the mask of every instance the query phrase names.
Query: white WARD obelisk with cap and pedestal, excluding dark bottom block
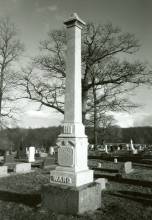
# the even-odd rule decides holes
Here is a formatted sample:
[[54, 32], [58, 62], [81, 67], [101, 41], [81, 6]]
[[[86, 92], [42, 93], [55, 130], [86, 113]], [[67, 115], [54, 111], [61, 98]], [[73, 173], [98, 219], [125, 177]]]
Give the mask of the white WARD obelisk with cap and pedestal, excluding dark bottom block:
[[67, 27], [67, 71], [63, 133], [57, 145], [58, 165], [51, 171], [51, 182], [81, 186], [93, 182], [88, 169], [88, 139], [82, 124], [81, 29], [85, 23], [73, 14]]

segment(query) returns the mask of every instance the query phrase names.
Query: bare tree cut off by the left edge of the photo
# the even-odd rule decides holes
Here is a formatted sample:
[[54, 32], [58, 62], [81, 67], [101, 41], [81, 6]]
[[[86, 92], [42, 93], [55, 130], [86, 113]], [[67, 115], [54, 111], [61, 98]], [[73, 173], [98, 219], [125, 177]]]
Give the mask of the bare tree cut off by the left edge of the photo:
[[11, 88], [16, 85], [15, 62], [23, 52], [17, 29], [9, 18], [0, 19], [0, 121], [11, 116]]

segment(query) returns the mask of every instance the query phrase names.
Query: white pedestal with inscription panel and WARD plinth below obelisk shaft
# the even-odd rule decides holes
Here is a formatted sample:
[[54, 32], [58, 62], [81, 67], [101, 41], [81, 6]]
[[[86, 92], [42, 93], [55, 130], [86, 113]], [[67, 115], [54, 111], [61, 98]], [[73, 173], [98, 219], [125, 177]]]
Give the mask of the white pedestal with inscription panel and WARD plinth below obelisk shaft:
[[85, 135], [70, 137], [62, 134], [57, 144], [59, 166], [50, 172], [50, 182], [75, 187], [93, 182], [93, 171], [89, 170], [87, 165], [87, 137]]

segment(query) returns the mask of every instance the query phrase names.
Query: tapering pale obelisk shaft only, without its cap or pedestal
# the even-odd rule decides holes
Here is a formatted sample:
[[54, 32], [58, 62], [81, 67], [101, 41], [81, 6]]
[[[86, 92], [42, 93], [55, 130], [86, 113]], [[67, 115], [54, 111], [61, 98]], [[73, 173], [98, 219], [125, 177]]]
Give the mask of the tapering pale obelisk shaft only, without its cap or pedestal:
[[81, 95], [81, 29], [67, 29], [67, 75], [65, 118], [67, 123], [82, 123]]

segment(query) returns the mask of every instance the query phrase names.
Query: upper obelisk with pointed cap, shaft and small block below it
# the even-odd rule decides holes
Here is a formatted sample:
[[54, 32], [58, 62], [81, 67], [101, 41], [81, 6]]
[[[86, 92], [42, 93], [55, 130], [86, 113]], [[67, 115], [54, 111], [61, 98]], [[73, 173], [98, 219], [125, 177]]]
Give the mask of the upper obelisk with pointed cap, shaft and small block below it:
[[64, 22], [67, 27], [67, 67], [64, 106], [64, 134], [83, 136], [81, 86], [81, 29], [85, 24], [76, 14]]

